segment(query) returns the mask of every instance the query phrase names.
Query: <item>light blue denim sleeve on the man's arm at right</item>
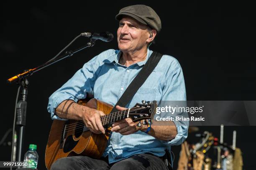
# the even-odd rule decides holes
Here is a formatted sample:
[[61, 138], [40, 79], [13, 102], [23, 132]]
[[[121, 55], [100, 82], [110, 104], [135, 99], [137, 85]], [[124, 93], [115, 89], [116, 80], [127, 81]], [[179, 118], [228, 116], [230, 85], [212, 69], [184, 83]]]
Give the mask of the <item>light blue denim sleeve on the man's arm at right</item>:
[[[163, 90], [162, 102], [160, 107], [166, 105], [172, 105], [172, 107], [186, 105], [186, 89], [185, 82], [182, 73], [182, 68], [177, 61], [177, 67], [171, 71], [166, 78], [166, 86]], [[174, 114], [170, 112], [161, 112], [161, 117], [174, 117]], [[187, 112], [176, 112], [177, 117], [188, 117]], [[174, 119], [174, 124], [177, 127], [177, 135], [173, 140], [161, 141], [165, 145], [180, 145], [187, 138], [187, 131], [189, 127], [189, 121], [177, 121]]]

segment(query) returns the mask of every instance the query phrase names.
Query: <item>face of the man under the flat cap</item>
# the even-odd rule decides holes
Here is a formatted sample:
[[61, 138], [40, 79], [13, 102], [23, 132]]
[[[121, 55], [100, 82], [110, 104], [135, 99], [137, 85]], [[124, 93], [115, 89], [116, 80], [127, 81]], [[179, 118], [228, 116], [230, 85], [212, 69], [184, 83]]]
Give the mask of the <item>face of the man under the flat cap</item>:
[[133, 18], [124, 17], [119, 22], [117, 31], [118, 48], [123, 52], [138, 51], [149, 41], [147, 25]]

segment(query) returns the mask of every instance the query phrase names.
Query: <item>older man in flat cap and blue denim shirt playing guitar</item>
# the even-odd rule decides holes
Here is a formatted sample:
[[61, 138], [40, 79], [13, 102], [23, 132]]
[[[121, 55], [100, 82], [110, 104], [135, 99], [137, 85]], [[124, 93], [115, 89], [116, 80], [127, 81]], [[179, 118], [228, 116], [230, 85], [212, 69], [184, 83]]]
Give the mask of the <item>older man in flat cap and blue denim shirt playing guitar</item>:
[[[104, 114], [76, 102], [87, 93], [115, 105], [153, 53], [148, 46], [161, 30], [159, 16], [146, 5], [125, 7], [115, 18], [119, 20], [119, 50], [110, 49], [95, 56], [50, 96], [48, 110], [52, 119], [83, 120], [93, 133], [105, 133], [100, 121]], [[186, 100], [182, 69], [175, 58], [163, 55], [125, 107], [131, 108], [142, 100]], [[153, 120], [151, 129], [144, 133], [146, 125], [138, 127], [131, 119], [123, 119], [113, 124], [102, 159], [65, 157], [57, 160], [51, 170], [167, 169], [162, 159], [165, 150], [170, 151], [171, 145], [180, 145], [187, 137], [187, 126], [178, 123]]]

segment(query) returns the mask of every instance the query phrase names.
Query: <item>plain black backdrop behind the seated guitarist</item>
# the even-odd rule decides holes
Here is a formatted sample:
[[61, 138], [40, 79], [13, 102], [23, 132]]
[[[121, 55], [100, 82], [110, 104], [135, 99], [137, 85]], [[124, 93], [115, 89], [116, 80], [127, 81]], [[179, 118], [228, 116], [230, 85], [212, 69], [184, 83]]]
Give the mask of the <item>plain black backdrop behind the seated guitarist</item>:
[[[114, 41], [97, 41], [85, 49], [35, 73], [28, 91], [24, 153], [30, 143], [38, 145], [39, 170], [44, 170], [44, 151], [52, 120], [47, 112], [49, 96], [85, 62], [109, 48], [117, 49], [118, 11], [128, 5], [149, 5], [162, 21], [161, 33], [152, 50], [174, 56], [182, 66], [187, 100], [256, 100], [255, 13], [252, 3], [191, 1], [125, 2], [33, 2], [8, 1], [1, 5], [1, 94], [0, 137], [12, 127], [16, 84], [6, 80], [55, 56], [82, 32], [110, 31]], [[70, 50], [83, 46], [79, 38]], [[16, 128], [18, 131], [18, 128]], [[219, 127], [200, 127], [219, 137]], [[224, 141], [243, 152], [244, 169], [254, 170], [255, 127], [225, 127]], [[191, 134], [189, 137], [192, 137]], [[10, 135], [7, 138], [10, 141]], [[10, 146], [0, 146], [0, 160], [10, 160]], [[173, 147], [177, 167], [180, 146]]]

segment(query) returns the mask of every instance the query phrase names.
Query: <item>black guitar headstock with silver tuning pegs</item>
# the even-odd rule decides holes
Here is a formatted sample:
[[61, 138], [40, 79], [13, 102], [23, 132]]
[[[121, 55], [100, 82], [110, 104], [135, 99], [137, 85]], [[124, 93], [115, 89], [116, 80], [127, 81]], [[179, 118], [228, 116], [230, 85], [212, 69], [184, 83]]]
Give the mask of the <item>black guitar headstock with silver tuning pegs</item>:
[[142, 104], [136, 103], [134, 107], [130, 109], [129, 118], [133, 122], [141, 121], [144, 119], [154, 119], [156, 113], [157, 102], [154, 101], [142, 101]]

